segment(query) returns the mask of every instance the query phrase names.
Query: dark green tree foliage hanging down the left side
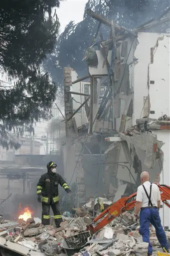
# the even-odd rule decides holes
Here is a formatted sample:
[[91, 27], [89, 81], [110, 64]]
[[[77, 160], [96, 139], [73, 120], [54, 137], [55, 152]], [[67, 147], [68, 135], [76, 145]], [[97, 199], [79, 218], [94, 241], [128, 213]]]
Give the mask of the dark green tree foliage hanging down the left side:
[[[56, 84], [41, 63], [52, 52], [59, 21], [51, 8], [59, 0], [0, 1], [0, 70], [9, 85], [0, 80], [0, 144], [19, 147], [17, 136], [32, 132], [32, 125], [51, 116]], [[16, 82], [10, 84], [12, 80]], [[13, 139], [11, 133], [16, 135]]]

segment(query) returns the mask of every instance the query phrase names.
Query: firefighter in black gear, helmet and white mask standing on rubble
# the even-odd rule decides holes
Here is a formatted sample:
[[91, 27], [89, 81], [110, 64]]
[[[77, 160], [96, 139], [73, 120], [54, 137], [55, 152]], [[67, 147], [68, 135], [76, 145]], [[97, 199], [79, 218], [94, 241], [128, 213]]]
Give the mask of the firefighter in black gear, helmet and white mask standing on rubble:
[[57, 173], [57, 164], [53, 161], [47, 163], [45, 174], [41, 175], [37, 183], [38, 201], [42, 202], [42, 224], [49, 225], [50, 206], [54, 213], [55, 224], [57, 227], [62, 222], [62, 216], [59, 210], [58, 184], [60, 184], [67, 193], [71, 192], [65, 180]]

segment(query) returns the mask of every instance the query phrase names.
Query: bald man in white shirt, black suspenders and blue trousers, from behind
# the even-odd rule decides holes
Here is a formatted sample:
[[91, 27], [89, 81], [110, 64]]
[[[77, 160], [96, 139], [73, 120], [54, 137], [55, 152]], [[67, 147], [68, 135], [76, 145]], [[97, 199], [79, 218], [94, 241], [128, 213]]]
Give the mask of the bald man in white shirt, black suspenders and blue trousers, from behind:
[[159, 215], [159, 209], [161, 206], [160, 189], [156, 184], [150, 183], [149, 178], [150, 176], [147, 171], [143, 171], [141, 173], [142, 185], [138, 187], [137, 191], [135, 217], [138, 217], [138, 213], [141, 210], [139, 232], [142, 235], [143, 241], [149, 243], [148, 255], [152, 255], [150, 223], [156, 229], [156, 235], [161, 246], [168, 251], [169, 245]]

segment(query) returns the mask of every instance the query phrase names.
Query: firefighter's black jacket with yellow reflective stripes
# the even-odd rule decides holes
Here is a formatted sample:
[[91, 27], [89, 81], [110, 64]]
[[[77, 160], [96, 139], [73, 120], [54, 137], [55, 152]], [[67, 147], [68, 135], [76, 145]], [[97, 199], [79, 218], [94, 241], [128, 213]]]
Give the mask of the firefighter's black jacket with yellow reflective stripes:
[[41, 175], [38, 183], [36, 193], [42, 195], [42, 202], [44, 203], [56, 203], [59, 201], [58, 197], [58, 184], [64, 189], [69, 188], [65, 180], [58, 173], [46, 172]]

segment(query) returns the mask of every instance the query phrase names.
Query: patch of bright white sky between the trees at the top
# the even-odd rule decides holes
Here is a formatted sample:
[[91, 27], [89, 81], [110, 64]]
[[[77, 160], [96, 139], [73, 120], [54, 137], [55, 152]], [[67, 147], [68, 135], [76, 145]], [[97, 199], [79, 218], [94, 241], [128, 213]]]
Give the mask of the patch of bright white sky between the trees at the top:
[[60, 2], [60, 7], [56, 9], [60, 21], [59, 33], [64, 31], [65, 26], [71, 20], [78, 23], [83, 19], [86, 3], [87, 0], [63, 0]]

